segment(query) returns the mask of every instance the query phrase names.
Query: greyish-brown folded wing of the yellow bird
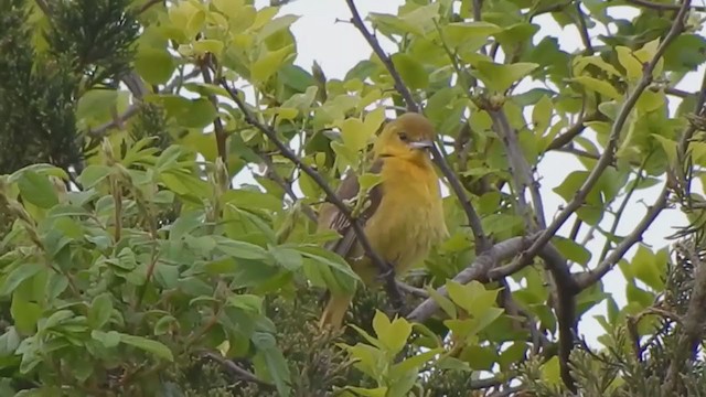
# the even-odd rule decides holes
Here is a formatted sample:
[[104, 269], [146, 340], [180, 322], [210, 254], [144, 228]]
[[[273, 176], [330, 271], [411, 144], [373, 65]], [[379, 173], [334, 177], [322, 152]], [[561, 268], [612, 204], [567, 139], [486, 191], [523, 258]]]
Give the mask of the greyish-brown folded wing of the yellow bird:
[[[379, 173], [382, 168], [383, 160], [378, 159], [371, 165], [368, 172]], [[349, 171], [343, 179], [336, 195], [341, 200], [353, 200], [357, 196], [360, 189], [361, 186], [357, 182], [357, 176], [354, 172]], [[383, 190], [379, 184], [373, 186], [373, 189], [368, 191], [367, 200], [370, 200], [370, 205], [367, 205], [360, 214], [360, 221], [362, 224], [365, 224], [365, 222], [373, 216], [379, 206], [382, 198]], [[319, 216], [319, 228], [331, 229], [339, 233], [341, 238], [327, 243], [325, 248], [344, 258], [349, 256], [351, 249], [355, 246], [357, 238], [355, 236], [355, 230], [351, 227], [351, 222], [335, 205], [327, 203], [322, 206], [321, 214]]]

